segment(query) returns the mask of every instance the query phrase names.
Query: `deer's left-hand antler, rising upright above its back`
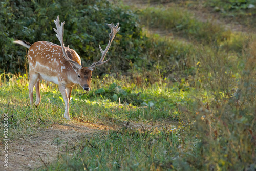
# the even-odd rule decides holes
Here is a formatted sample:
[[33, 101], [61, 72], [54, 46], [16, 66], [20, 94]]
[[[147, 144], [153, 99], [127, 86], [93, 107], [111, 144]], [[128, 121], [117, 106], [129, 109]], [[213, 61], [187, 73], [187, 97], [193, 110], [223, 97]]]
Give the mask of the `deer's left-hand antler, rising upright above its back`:
[[68, 55], [67, 55], [67, 50], [69, 49], [69, 45], [67, 48], [65, 48], [64, 43], [63, 43], [63, 36], [64, 36], [64, 24], [65, 22], [61, 22], [61, 25], [59, 26], [59, 16], [57, 16], [57, 19], [54, 20], [54, 23], [56, 25], [56, 29], [53, 28], [53, 30], [57, 33], [56, 36], [59, 39], [61, 48], [62, 48], [62, 52], [63, 52], [63, 59], [67, 60], [68, 62], [70, 62], [71, 65], [77, 67], [77, 68], [83, 68], [83, 62], [82, 65], [80, 65], [79, 63], [71, 60]]

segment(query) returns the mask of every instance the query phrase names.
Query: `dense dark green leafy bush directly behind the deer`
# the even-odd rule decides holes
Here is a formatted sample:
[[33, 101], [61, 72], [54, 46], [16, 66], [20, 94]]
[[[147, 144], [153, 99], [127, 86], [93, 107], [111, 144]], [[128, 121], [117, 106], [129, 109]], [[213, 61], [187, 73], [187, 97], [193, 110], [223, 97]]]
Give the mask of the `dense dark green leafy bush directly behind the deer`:
[[120, 23], [121, 30], [108, 54], [111, 62], [99, 68], [104, 72], [108, 68], [127, 70], [130, 64], [126, 59], [136, 58], [142, 51], [144, 38], [136, 15], [106, 0], [10, 0], [1, 2], [0, 8], [0, 72], [17, 73], [26, 68], [26, 50], [12, 44], [15, 39], [31, 44], [41, 40], [59, 44], [53, 31], [53, 20], [58, 15], [60, 21], [66, 21], [65, 45], [70, 45], [88, 64], [99, 60], [98, 45], [104, 47], [108, 43], [110, 29], [106, 23]]

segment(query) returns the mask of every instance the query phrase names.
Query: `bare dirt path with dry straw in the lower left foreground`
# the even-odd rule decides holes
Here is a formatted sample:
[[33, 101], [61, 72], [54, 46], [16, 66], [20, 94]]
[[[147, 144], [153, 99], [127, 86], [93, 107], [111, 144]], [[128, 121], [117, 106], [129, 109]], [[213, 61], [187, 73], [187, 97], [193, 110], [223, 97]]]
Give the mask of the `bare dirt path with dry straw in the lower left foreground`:
[[[39, 128], [31, 136], [20, 136], [26, 138], [9, 141], [8, 168], [1, 164], [0, 170], [33, 170], [47, 166], [62, 153], [66, 153], [66, 147], [68, 152], [72, 152], [79, 142], [90, 139], [100, 130], [109, 129], [111, 128], [108, 126], [90, 122], [54, 124], [48, 128]], [[3, 148], [3, 144], [0, 147]]]

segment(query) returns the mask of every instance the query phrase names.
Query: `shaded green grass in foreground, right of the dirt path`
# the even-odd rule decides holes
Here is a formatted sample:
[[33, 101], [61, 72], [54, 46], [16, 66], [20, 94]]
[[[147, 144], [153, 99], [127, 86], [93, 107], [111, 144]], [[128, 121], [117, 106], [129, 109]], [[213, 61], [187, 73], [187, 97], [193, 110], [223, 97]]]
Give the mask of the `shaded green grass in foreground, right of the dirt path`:
[[[50, 169], [59, 170], [150, 170], [155, 168], [170, 169], [172, 157], [178, 152], [178, 131], [170, 127], [158, 130], [122, 129], [96, 135], [93, 139], [84, 139], [82, 151], [73, 158], [63, 156]], [[167, 140], [166, 140], [166, 136]], [[170, 153], [173, 152], [173, 155]], [[60, 164], [65, 163], [65, 164]], [[74, 164], [75, 163], [75, 164]]]

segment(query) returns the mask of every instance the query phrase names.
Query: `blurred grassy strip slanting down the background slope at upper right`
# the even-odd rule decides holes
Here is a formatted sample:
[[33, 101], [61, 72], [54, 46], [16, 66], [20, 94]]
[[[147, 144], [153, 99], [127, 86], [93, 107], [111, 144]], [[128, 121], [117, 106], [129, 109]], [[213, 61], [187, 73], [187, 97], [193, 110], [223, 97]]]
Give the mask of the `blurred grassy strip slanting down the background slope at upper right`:
[[255, 37], [252, 33], [232, 32], [215, 21], [202, 20], [178, 5], [141, 9], [140, 16], [146, 28], [166, 30], [166, 34], [172, 32], [189, 41], [219, 46], [226, 51], [241, 53], [249, 37]]

